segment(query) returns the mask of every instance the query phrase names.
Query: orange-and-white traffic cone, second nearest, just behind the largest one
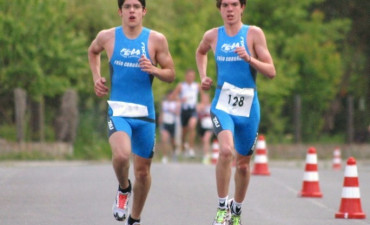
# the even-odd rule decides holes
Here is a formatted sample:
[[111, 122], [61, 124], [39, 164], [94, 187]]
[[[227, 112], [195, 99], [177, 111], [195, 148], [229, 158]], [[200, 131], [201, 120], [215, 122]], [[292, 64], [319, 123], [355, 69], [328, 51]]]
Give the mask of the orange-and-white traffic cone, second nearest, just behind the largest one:
[[310, 147], [307, 151], [302, 191], [299, 195], [301, 197], [322, 197], [319, 186], [319, 173], [317, 170], [317, 155], [314, 147]]

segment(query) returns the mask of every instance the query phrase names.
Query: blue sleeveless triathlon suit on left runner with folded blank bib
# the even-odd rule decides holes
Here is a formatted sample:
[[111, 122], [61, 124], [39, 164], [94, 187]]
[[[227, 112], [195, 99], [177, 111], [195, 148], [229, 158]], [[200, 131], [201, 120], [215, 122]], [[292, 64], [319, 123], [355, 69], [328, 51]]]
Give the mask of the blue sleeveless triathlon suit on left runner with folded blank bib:
[[154, 77], [143, 72], [139, 67], [141, 55], [150, 59], [149, 34], [150, 30], [143, 27], [136, 39], [129, 39], [123, 33], [121, 26], [116, 27], [114, 50], [109, 62], [111, 75], [109, 100], [144, 107], [147, 110], [145, 116], [142, 114], [135, 116], [135, 110], [130, 111], [133, 115], [117, 115], [117, 113], [113, 114], [114, 110], [108, 104], [109, 136], [116, 131], [127, 133], [131, 138], [132, 152], [144, 158], [153, 157], [155, 145], [155, 111], [152, 92]]

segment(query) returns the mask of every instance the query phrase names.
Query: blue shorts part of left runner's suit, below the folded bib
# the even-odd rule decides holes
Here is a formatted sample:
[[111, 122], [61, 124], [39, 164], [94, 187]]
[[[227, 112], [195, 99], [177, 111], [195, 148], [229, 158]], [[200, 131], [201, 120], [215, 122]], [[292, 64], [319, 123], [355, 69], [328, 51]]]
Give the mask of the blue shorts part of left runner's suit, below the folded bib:
[[132, 152], [143, 158], [152, 158], [155, 145], [155, 123], [146, 118], [108, 117], [108, 136], [123, 131], [131, 138]]

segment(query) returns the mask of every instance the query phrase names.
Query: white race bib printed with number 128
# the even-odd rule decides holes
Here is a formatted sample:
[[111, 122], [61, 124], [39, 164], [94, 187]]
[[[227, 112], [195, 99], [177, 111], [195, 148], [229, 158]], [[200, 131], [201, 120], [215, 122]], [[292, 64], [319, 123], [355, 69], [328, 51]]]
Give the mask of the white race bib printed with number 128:
[[238, 88], [225, 82], [216, 109], [230, 115], [249, 117], [254, 98], [253, 88]]

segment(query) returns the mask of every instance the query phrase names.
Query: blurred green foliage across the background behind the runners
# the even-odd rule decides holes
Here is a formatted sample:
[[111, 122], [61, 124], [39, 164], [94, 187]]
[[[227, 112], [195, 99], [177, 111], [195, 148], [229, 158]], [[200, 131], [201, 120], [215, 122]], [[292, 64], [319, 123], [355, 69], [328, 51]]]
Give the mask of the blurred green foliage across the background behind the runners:
[[[196, 69], [195, 50], [204, 32], [222, 25], [215, 4], [147, 1], [144, 26], [165, 34], [176, 66], [174, 83], [153, 83], [157, 107], [164, 93], [184, 79], [186, 69]], [[274, 80], [260, 75], [257, 81], [260, 131], [271, 142], [293, 141], [297, 95], [302, 99], [303, 142], [345, 141], [348, 96], [355, 101], [356, 132], [366, 132], [369, 11], [370, 2], [362, 0], [248, 1], [243, 22], [264, 30], [277, 70]], [[44, 103], [46, 141], [54, 141], [50, 127], [60, 98], [73, 88], [80, 112], [76, 156], [109, 156], [106, 98], [94, 95], [87, 48], [100, 30], [120, 23], [116, 1], [0, 0], [0, 138], [15, 139], [14, 88], [25, 89], [31, 102]], [[102, 62], [102, 74], [109, 79], [105, 54]], [[216, 78], [212, 54], [208, 75]], [[27, 128], [26, 138], [32, 139]]]

